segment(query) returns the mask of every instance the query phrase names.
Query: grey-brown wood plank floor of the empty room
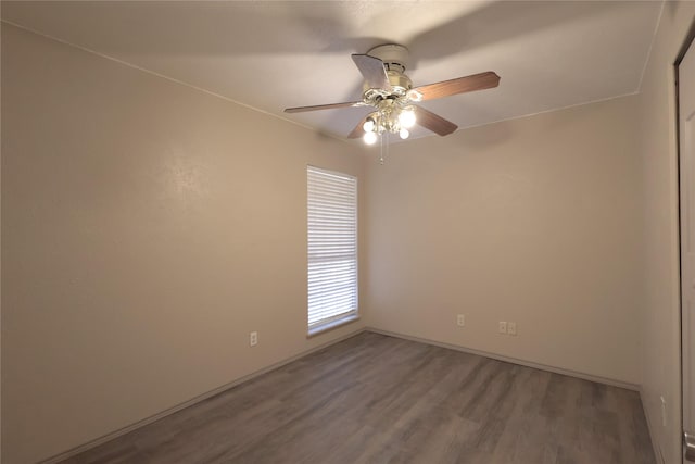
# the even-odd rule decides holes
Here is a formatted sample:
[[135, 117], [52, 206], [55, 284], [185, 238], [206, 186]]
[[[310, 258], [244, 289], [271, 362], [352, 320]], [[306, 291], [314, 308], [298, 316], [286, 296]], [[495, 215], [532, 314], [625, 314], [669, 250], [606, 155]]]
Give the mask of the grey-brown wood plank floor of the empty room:
[[655, 460], [634, 391], [362, 333], [65, 462]]

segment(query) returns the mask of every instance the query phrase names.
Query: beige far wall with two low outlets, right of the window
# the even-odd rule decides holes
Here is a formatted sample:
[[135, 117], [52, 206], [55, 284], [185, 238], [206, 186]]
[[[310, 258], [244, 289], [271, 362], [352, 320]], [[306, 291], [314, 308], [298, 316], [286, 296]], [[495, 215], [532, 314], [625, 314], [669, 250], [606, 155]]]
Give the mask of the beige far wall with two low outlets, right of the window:
[[637, 384], [635, 103], [393, 146], [368, 172], [367, 324]]

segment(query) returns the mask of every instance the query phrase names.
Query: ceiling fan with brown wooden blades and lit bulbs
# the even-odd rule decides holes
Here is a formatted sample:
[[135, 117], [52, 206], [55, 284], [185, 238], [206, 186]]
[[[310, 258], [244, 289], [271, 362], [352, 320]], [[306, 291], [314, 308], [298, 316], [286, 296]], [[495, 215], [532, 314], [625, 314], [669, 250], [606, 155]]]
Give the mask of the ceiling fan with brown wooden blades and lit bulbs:
[[361, 101], [288, 108], [285, 112], [302, 113], [338, 108], [371, 106], [374, 111], [348, 135], [348, 138], [362, 136], [369, 145], [376, 142], [378, 136], [384, 133], [399, 134], [405, 139], [409, 135], [407, 129], [415, 124], [440, 136], [446, 136], [458, 126], [414, 103], [494, 88], [500, 85], [500, 76], [488, 71], [413, 87], [410, 78], [405, 75], [408, 50], [395, 43], [375, 47], [365, 54], [353, 54], [352, 60], [365, 78]]

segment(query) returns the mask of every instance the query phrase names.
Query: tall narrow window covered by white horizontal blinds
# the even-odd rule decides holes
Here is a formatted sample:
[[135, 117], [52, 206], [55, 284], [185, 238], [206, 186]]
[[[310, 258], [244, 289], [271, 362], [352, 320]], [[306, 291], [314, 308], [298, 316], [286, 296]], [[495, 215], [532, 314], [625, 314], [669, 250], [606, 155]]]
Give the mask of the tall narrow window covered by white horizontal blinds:
[[306, 167], [308, 334], [357, 318], [357, 178]]

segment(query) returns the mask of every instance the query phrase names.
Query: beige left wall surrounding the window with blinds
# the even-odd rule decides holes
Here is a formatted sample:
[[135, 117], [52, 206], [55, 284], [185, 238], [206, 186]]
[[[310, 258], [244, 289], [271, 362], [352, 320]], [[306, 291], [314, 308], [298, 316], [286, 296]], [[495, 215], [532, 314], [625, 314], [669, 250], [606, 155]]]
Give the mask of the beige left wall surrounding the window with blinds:
[[7, 25], [2, 90], [4, 462], [359, 328], [306, 339], [306, 164], [357, 149]]

